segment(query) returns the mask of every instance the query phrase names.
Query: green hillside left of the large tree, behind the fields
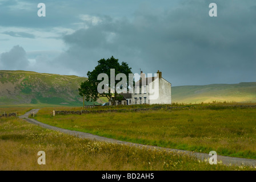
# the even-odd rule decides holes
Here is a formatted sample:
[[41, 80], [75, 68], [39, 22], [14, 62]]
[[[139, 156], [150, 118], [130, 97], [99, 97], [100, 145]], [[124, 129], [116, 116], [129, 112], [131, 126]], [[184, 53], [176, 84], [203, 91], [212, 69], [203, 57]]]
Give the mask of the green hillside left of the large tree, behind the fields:
[[[0, 105], [82, 106], [78, 88], [85, 77], [28, 71], [0, 71]], [[92, 103], [86, 102], [87, 105]]]

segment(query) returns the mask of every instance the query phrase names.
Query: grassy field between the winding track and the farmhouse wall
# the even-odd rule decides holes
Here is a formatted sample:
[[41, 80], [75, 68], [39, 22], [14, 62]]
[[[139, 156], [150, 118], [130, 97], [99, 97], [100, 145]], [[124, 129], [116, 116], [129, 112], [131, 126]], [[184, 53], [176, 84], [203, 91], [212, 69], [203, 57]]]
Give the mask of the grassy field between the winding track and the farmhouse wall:
[[223, 105], [55, 117], [53, 108], [45, 108], [35, 119], [128, 142], [256, 159], [256, 109]]

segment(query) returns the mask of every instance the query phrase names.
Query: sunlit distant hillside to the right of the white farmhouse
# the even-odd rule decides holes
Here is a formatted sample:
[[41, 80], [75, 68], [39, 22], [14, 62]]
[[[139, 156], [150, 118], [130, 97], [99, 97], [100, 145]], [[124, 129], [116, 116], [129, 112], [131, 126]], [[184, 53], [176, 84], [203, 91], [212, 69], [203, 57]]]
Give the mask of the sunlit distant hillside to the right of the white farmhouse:
[[202, 86], [173, 86], [172, 99], [173, 102], [179, 103], [212, 101], [256, 102], [256, 82]]

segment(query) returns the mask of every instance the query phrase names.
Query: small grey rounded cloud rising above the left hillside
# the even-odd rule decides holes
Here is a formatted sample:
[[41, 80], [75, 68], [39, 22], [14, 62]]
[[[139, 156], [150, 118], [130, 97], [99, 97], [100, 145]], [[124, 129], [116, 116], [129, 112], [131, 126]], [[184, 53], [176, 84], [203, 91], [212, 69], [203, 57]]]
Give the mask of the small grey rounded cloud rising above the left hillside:
[[14, 46], [9, 52], [0, 55], [0, 69], [27, 69], [29, 60], [21, 46]]

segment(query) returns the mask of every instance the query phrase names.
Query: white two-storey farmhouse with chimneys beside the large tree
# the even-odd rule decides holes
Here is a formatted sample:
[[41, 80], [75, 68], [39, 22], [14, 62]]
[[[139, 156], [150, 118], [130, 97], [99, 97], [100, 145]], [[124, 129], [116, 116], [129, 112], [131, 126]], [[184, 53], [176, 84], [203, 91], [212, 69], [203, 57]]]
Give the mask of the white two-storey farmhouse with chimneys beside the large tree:
[[132, 104], [171, 104], [171, 83], [162, 77], [162, 72], [157, 73], [157, 77], [146, 78], [141, 72], [131, 94]]

